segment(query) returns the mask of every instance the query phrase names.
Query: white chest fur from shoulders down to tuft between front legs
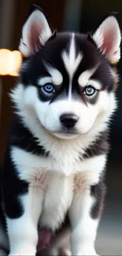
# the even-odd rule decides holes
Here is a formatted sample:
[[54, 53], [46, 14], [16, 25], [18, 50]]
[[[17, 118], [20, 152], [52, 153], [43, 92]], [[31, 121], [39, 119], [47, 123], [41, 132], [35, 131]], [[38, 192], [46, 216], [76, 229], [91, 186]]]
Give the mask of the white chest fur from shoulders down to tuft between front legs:
[[[18, 176], [30, 186], [43, 192], [41, 225], [57, 228], [71, 206], [77, 190], [96, 184], [105, 167], [105, 155], [74, 161], [73, 158], [39, 157], [13, 147], [11, 157], [17, 166]], [[49, 218], [50, 212], [50, 218]], [[52, 216], [52, 218], [51, 218]], [[52, 220], [52, 221], [51, 221]]]

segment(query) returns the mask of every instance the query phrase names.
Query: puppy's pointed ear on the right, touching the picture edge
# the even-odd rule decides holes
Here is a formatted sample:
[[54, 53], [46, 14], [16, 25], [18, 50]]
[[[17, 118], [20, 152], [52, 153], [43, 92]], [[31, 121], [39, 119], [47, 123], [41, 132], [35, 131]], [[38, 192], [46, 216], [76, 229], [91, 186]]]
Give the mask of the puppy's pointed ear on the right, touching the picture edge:
[[116, 20], [116, 13], [109, 14], [92, 35], [99, 50], [115, 65], [120, 60], [120, 28]]

